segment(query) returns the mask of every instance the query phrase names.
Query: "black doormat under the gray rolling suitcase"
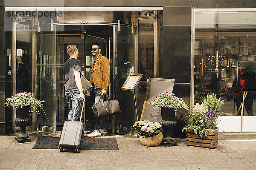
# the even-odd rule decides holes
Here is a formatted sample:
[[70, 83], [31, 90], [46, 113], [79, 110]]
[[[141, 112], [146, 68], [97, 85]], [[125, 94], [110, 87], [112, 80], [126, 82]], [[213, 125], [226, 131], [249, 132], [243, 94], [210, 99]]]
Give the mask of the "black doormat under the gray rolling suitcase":
[[[32, 149], [58, 149], [58, 137], [39, 136]], [[81, 149], [118, 150], [116, 138], [87, 138], [84, 137]]]

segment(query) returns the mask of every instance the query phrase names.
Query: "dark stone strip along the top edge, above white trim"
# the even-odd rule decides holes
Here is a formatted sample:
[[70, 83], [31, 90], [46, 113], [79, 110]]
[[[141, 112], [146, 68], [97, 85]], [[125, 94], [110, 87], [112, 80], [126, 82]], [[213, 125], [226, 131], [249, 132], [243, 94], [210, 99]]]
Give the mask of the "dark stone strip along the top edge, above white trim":
[[[15, 4], [15, 5], [14, 5]], [[190, 6], [192, 8], [256, 8], [255, 0], [0, 0], [0, 6]]]

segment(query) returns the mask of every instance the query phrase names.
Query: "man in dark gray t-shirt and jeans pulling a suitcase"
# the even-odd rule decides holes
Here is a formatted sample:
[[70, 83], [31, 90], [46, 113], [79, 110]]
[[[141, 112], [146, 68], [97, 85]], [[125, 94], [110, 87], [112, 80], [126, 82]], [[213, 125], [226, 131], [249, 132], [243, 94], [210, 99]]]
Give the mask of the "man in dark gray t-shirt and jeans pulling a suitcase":
[[[70, 106], [67, 120], [73, 119], [73, 113], [76, 110], [74, 120], [77, 121], [81, 100], [84, 99], [81, 84], [81, 61], [77, 59], [79, 52], [76, 45], [68, 45], [67, 53], [69, 54], [70, 58], [67, 59], [67, 61], [62, 65], [65, 80], [65, 95]], [[78, 100], [77, 105], [76, 100]]]

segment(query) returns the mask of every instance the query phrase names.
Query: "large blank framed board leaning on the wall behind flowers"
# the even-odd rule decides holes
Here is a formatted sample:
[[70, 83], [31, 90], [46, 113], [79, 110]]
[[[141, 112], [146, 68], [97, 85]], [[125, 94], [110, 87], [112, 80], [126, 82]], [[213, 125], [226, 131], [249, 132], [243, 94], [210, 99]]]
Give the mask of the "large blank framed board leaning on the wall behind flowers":
[[159, 122], [162, 119], [160, 108], [154, 108], [153, 105], [147, 102], [151, 102], [155, 96], [160, 93], [165, 93], [166, 91], [172, 94], [174, 81], [175, 79], [149, 78], [140, 120]]

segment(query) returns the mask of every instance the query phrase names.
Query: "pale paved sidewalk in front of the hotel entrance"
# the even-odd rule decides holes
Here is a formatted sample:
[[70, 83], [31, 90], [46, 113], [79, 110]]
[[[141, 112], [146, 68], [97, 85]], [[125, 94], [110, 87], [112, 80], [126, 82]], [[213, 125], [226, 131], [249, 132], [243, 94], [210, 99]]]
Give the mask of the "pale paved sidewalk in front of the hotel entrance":
[[186, 146], [185, 139], [175, 139], [175, 147], [146, 147], [137, 138], [109, 137], [116, 137], [119, 150], [81, 150], [78, 154], [32, 149], [37, 137], [18, 144], [15, 136], [0, 136], [0, 169], [256, 170], [256, 141], [252, 140], [219, 140], [216, 149], [207, 149]]

